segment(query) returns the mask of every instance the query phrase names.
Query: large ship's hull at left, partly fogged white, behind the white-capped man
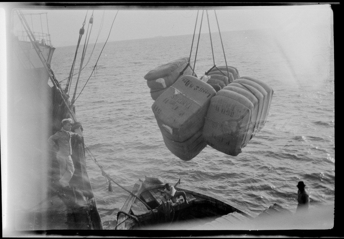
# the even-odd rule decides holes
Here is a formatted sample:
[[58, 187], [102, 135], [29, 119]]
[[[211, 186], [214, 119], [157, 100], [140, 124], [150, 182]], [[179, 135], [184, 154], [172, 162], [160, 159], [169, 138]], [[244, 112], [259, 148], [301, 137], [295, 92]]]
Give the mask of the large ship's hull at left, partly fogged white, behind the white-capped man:
[[[48, 65], [54, 48], [40, 48]], [[35, 53], [35, 54], [34, 54]], [[8, 222], [15, 231], [103, 229], [81, 142], [73, 143], [71, 188], [56, 190], [56, 154], [47, 139], [76, 117], [30, 42], [12, 42], [8, 74]], [[80, 127], [73, 129], [82, 136]]]

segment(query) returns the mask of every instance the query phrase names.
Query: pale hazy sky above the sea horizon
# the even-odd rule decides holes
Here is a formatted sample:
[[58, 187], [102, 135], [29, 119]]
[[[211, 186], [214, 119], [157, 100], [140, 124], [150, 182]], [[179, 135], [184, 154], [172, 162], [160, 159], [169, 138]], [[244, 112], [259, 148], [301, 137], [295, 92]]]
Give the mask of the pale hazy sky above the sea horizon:
[[[10, 3], [0, 8], [13, 6]], [[19, 5], [14, 5], [18, 7]], [[109, 42], [152, 38], [156, 36], [171, 36], [193, 34], [195, 30], [196, 16], [198, 12], [198, 22], [196, 33], [199, 31], [202, 10], [204, 11], [202, 22], [202, 33], [209, 32], [207, 16], [211, 32], [218, 32], [217, 21], [221, 32], [233, 30], [249, 29], [279, 29], [286, 23], [295, 24], [324, 24], [330, 21], [331, 6], [328, 4], [315, 4], [305, 6], [231, 6], [231, 7], [95, 7], [83, 6], [72, 7], [63, 6], [26, 6], [23, 12], [42, 13], [47, 12], [49, 23], [49, 33], [53, 39], [53, 46], [76, 45], [79, 29], [82, 27], [86, 17], [85, 32], [87, 32], [88, 22], [93, 14], [93, 38], [89, 43], [94, 43], [96, 35], [101, 27], [101, 20], [104, 14], [103, 27], [101, 29], [98, 42], [104, 42], [110, 32], [112, 22], [113, 27], [109, 35]], [[216, 11], [216, 17], [214, 10]], [[118, 14], [117, 14], [118, 11]], [[117, 14], [117, 16], [116, 16]], [[43, 15], [42, 15], [43, 16]], [[116, 18], [115, 18], [116, 16]], [[37, 15], [38, 19], [39, 15]], [[44, 27], [42, 27], [44, 28]], [[35, 29], [40, 30], [40, 29]]]

